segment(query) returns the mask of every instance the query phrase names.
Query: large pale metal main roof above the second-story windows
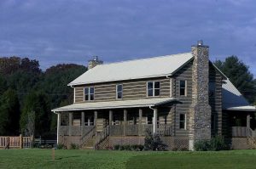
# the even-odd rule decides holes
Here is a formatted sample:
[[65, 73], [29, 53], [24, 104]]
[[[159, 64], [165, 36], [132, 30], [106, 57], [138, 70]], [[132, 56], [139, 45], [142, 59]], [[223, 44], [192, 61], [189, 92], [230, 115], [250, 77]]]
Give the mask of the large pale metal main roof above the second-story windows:
[[184, 53], [96, 65], [70, 82], [68, 86], [170, 76], [191, 59], [193, 59], [191, 53]]

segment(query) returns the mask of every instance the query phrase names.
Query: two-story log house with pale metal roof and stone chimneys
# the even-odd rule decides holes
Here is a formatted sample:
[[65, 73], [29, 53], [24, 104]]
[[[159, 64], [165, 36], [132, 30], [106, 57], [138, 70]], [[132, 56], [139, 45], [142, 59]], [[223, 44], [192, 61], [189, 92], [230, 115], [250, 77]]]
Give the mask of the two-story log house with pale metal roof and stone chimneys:
[[88, 68], [68, 84], [73, 104], [52, 110], [58, 115], [58, 144], [91, 149], [143, 144], [148, 128], [168, 149], [193, 150], [196, 140], [232, 138], [234, 115], [245, 117], [248, 129], [255, 111], [209, 61], [201, 41], [191, 53], [112, 64], [95, 58]]

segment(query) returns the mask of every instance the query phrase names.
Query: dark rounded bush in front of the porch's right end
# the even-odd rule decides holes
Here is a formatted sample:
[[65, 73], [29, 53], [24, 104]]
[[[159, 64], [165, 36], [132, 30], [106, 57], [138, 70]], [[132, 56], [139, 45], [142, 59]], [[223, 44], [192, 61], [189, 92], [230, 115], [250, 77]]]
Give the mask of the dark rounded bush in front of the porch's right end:
[[146, 130], [145, 145], [144, 145], [145, 150], [162, 151], [162, 150], [166, 150], [166, 148], [167, 148], [167, 145], [162, 142], [159, 134], [153, 135], [149, 129]]

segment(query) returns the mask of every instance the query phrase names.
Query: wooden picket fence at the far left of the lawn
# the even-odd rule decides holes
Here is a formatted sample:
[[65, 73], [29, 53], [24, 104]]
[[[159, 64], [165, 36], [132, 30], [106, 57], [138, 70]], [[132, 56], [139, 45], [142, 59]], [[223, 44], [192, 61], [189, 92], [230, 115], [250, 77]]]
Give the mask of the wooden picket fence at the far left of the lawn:
[[32, 148], [33, 137], [0, 136], [0, 149]]

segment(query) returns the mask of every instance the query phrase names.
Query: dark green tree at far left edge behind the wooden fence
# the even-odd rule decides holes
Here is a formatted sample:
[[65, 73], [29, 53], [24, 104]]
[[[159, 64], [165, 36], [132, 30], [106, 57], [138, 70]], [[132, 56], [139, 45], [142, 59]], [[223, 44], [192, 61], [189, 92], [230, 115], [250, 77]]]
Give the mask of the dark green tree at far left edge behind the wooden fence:
[[0, 99], [0, 135], [19, 133], [20, 104], [14, 90], [8, 89]]

